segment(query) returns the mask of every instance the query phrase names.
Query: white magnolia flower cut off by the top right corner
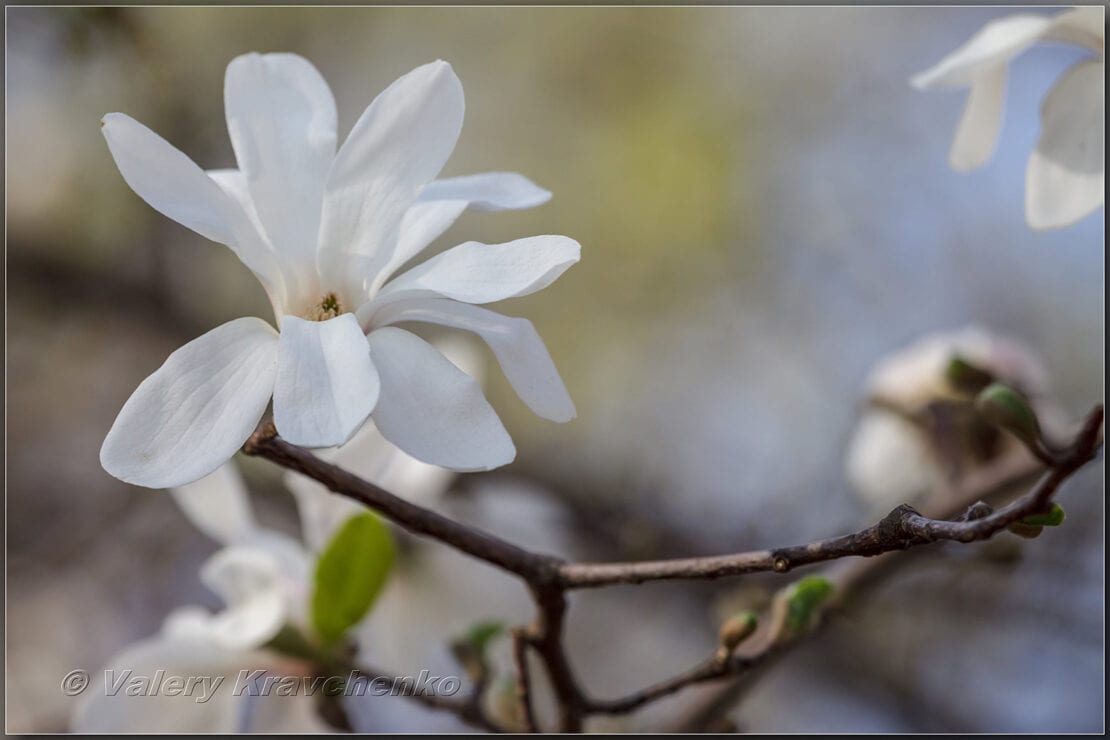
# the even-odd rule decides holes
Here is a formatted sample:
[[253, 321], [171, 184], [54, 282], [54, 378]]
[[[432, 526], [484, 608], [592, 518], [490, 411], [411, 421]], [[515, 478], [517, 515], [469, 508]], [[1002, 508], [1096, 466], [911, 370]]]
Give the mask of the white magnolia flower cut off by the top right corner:
[[1096, 54], [1064, 72], [1041, 105], [1041, 133], [1026, 169], [1026, 220], [1033, 229], [1067, 226], [1096, 211], [1103, 178], [1103, 9], [993, 20], [938, 64], [914, 78], [919, 89], [969, 88], [949, 163], [966, 171], [990, 159], [1002, 123], [1006, 68], [1040, 41]]

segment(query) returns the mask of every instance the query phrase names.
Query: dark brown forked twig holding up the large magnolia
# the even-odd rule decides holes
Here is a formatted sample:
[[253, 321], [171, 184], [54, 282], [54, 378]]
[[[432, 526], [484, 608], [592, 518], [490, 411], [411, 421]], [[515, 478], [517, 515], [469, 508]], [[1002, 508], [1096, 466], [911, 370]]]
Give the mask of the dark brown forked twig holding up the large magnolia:
[[[531, 647], [543, 660], [551, 678], [559, 709], [559, 729], [576, 732], [589, 714], [627, 713], [656, 699], [686, 687], [729, 676], [744, 675], [754, 666], [780, 652], [794, 640], [771, 638], [754, 652], [722, 658], [718, 653], [697, 666], [654, 686], [613, 700], [591, 699], [581, 689], [563, 647], [566, 592], [578, 588], [598, 588], [617, 584], [643, 584], [650, 580], [722, 578], [743, 574], [787, 572], [794, 568], [847, 557], [872, 557], [896, 550], [938, 541], [970, 543], [987, 539], [1032, 514], [1043, 511], [1060, 486], [1080, 467], [1091, 460], [1101, 446], [1102, 407], [1096, 407], [1084, 420], [1072, 444], [1047, 460], [1048, 469], [1026, 495], [995, 511], [976, 496], [961, 509], [949, 513], [949, 519], [934, 519], [909, 506], [899, 506], [878, 524], [860, 531], [817, 540], [808, 545], [755, 550], [733, 555], [675, 558], [643, 562], [576, 564], [551, 555], [533, 553], [493, 535], [448, 519], [435, 511], [411, 504], [356, 476], [325, 463], [310, 452], [290, 445], [278, 437], [272, 424], [265, 423], [243, 446], [249, 455], [265, 457], [301, 473], [331, 490], [349, 496], [384, 515], [405, 529], [432, 537], [455, 549], [478, 558], [522, 578], [536, 604], [536, 620], [527, 631], [514, 632], [514, 657], [517, 661], [517, 691], [525, 714], [525, 726], [534, 731], [531, 681], [523, 651]], [[1043, 455], [1035, 456], [1043, 460]], [[985, 480], [997, 486], [1001, 480]], [[983, 486], [985, 490], [990, 488]], [[885, 559], [885, 558], [880, 558]], [[849, 578], [850, 580], [850, 578]], [[438, 698], [437, 698], [438, 699]], [[720, 702], [718, 702], [720, 703]], [[455, 706], [458, 704], [458, 706]], [[452, 711], [473, 709], [473, 702], [452, 703]], [[463, 714], [460, 714], [463, 717]], [[466, 719], [464, 717], [464, 719]], [[471, 717], [471, 719], [475, 719]], [[485, 719], [481, 714], [478, 719]], [[486, 720], [487, 721], [487, 720]], [[495, 728], [486, 728], [495, 729]]]

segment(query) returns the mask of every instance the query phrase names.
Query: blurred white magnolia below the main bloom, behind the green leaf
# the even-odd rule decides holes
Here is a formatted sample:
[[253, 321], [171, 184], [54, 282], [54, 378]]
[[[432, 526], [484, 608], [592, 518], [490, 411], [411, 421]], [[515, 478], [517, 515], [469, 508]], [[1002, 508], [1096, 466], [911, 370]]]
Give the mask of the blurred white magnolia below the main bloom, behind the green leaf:
[[[455, 362], [472, 369], [474, 358], [453, 345], [440, 345]], [[421, 463], [366, 424], [337, 450], [334, 462], [407, 498], [434, 500], [453, 474]], [[110, 686], [121, 677], [206, 677], [190, 695], [130, 696], [125, 689], [82, 695], [73, 729], [79, 732], [325, 732], [331, 728], [316, 711], [315, 696], [264, 691], [252, 671], [272, 678], [311, 677], [312, 666], [266, 647], [285, 625], [311, 635], [311, 577], [319, 553], [350, 517], [366, 509], [290, 474], [286, 484], [301, 513], [302, 540], [260, 527], [239, 472], [226, 463], [192, 484], [172, 489], [185, 516], [223, 547], [201, 569], [201, 580], [220, 595], [225, 608], [212, 614], [200, 607], [172, 612], [159, 635], [128, 646], [112, 657]], [[130, 673], [127, 673], [130, 671]], [[109, 673], [98, 673], [108, 676]], [[244, 678], [248, 677], [248, 678]], [[255, 677], [255, 678], [250, 678]], [[310, 679], [311, 680], [311, 679]], [[212, 681], [219, 681], [212, 686]], [[236, 696], [236, 681], [253, 681]], [[125, 683], [123, 686], [127, 686]], [[203, 699], [202, 701], [199, 699]], [[398, 701], [397, 699], [393, 699]]]

